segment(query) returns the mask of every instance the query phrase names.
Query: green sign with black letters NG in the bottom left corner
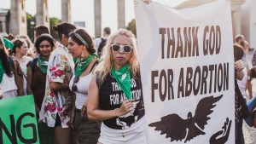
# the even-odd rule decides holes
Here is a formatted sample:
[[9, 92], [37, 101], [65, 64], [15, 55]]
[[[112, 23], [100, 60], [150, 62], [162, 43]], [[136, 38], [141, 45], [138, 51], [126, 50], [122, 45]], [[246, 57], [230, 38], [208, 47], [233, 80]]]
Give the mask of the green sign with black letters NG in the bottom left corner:
[[39, 143], [32, 95], [0, 100], [0, 144]]

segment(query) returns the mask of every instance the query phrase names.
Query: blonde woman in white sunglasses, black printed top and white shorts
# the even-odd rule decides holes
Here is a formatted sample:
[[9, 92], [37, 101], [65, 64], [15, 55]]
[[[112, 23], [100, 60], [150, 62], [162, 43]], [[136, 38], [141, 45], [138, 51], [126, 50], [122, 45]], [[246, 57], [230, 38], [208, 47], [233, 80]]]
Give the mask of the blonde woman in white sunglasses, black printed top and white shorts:
[[86, 101], [88, 118], [102, 120], [98, 143], [147, 144], [136, 37], [119, 29], [108, 37], [102, 59]]

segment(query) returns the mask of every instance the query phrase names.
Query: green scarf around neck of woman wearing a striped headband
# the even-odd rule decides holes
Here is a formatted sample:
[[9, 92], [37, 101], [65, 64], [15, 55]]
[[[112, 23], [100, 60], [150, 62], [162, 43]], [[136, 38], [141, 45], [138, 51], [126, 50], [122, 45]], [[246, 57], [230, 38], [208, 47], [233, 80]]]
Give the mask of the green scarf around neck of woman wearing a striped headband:
[[93, 60], [94, 55], [88, 55], [84, 60], [77, 60], [77, 66], [76, 66], [76, 72], [75, 76], [79, 77], [84, 70], [87, 68], [87, 66], [90, 65], [90, 62]]

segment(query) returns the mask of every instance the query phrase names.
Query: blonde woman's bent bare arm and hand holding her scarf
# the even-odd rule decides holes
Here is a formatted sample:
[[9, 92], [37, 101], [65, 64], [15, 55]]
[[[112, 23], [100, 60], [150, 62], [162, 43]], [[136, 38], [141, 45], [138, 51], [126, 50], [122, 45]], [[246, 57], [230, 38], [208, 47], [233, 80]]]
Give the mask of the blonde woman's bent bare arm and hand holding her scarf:
[[[86, 101], [85, 101], [86, 102]], [[99, 89], [96, 84], [96, 75], [91, 78], [88, 100], [87, 100], [87, 113], [90, 120], [105, 120], [109, 118], [116, 118], [131, 112], [133, 107], [132, 101], [124, 101], [120, 108], [114, 110], [100, 110], [99, 109]]]

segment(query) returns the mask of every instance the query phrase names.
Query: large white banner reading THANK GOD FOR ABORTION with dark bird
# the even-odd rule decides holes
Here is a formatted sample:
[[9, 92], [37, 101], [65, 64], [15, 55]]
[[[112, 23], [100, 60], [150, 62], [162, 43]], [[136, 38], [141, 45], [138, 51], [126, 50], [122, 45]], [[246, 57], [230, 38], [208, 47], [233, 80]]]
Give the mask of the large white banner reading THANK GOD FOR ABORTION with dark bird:
[[235, 143], [230, 2], [135, 10], [149, 143]]

